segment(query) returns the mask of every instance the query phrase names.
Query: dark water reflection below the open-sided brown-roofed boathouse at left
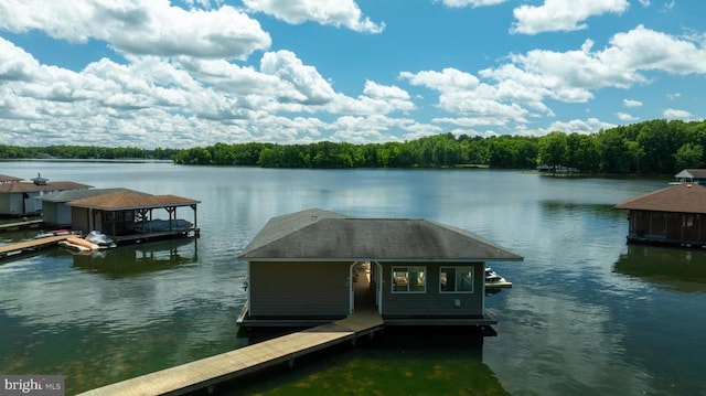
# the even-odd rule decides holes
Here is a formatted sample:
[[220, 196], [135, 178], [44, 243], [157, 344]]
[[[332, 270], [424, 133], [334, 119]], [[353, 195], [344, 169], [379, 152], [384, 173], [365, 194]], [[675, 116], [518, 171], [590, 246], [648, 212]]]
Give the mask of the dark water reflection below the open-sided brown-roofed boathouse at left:
[[197, 238], [150, 242], [86, 253], [67, 251], [73, 255], [75, 268], [100, 274], [108, 279], [171, 269], [199, 260]]

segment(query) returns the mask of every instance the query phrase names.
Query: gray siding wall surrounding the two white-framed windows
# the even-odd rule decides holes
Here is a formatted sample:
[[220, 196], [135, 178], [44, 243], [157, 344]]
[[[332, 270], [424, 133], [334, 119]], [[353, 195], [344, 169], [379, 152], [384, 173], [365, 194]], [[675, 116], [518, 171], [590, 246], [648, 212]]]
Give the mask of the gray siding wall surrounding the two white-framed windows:
[[[400, 266], [426, 267], [426, 292], [399, 293], [392, 292], [392, 268]], [[439, 291], [440, 267], [473, 267], [472, 293], [441, 293]], [[473, 264], [383, 264], [383, 317], [481, 317], [483, 315], [483, 263]], [[457, 307], [456, 300], [459, 300]]]

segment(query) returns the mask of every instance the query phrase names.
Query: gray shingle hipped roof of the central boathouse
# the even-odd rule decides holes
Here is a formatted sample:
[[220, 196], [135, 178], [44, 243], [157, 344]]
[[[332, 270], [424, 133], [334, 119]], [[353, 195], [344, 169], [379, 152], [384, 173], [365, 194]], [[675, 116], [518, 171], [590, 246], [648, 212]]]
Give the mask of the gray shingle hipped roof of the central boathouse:
[[479, 235], [440, 223], [354, 218], [318, 208], [270, 220], [239, 257], [456, 263], [523, 259]]

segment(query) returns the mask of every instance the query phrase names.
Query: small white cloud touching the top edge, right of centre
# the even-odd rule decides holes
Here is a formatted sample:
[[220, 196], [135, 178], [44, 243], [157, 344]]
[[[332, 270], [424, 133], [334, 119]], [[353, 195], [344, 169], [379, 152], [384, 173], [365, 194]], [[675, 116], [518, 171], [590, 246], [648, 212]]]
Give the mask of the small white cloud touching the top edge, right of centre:
[[523, 4], [513, 10], [517, 20], [511, 32], [537, 34], [542, 32], [575, 31], [586, 29], [590, 17], [605, 13], [623, 13], [628, 0], [545, 0], [542, 6]]

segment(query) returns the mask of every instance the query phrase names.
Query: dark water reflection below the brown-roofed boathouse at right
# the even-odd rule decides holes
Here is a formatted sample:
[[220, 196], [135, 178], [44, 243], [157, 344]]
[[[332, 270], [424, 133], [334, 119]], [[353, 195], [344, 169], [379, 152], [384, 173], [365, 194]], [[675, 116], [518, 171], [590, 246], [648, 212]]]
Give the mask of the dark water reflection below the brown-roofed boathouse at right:
[[681, 292], [706, 291], [706, 251], [630, 245], [614, 271]]

